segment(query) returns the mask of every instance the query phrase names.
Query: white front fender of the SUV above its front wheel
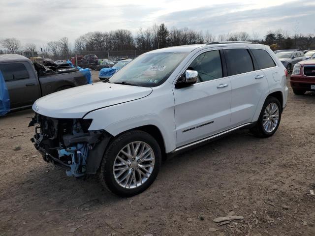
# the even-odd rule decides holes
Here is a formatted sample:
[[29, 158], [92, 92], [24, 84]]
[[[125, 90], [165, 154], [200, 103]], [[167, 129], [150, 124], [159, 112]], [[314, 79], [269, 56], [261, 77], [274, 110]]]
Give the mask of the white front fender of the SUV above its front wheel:
[[93, 119], [89, 130], [104, 129], [113, 136], [144, 125], [154, 125], [159, 129], [168, 153], [176, 148], [175, 104], [169, 91], [169, 88], [159, 92], [154, 90], [149, 96], [95, 110], [84, 118]]

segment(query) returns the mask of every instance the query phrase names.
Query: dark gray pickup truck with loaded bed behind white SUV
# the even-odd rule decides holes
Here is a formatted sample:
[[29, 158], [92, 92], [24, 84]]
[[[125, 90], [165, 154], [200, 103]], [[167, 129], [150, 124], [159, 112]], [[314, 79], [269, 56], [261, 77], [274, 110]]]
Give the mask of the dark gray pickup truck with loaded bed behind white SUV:
[[46, 67], [16, 54], [0, 55], [0, 71], [9, 93], [10, 111], [29, 108], [47, 94], [92, 83], [90, 71]]

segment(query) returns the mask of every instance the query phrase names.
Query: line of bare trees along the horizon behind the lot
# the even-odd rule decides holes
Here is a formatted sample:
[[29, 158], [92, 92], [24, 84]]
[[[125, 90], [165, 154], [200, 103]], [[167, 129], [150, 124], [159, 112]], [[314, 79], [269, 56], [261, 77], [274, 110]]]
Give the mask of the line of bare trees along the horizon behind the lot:
[[[89, 32], [75, 39], [74, 44], [70, 44], [68, 38], [63, 37], [58, 41], [50, 41], [41, 48], [45, 58], [68, 59], [75, 52], [84, 54], [84, 52], [101, 51], [150, 51], [169, 46], [213, 41], [255, 41], [270, 45], [273, 50], [315, 49], [314, 34], [303, 35], [295, 31], [294, 35], [289, 35], [287, 31], [279, 29], [268, 31], [264, 37], [261, 37], [257, 32], [252, 32], [252, 34], [247, 32], [232, 32], [213, 35], [209, 30], [203, 32], [175, 27], [168, 29], [165, 24], [155, 24], [146, 29], [140, 28], [134, 35], [127, 29], [117, 29], [109, 32]], [[0, 44], [5, 49], [4, 51], [0, 50], [0, 54], [39, 51], [34, 43], [27, 43], [24, 47], [21, 46], [20, 41], [16, 38], [2, 39], [0, 40]]]

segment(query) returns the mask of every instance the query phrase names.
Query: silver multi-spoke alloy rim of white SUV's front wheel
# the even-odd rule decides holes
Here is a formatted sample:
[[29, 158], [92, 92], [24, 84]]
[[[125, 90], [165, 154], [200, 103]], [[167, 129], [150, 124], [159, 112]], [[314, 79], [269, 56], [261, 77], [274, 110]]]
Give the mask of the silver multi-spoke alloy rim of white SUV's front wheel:
[[136, 141], [122, 148], [115, 158], [113, 174], [123, 188], [141, 186], [151, 176], [155, 164], [154, 151], [145, 142]]

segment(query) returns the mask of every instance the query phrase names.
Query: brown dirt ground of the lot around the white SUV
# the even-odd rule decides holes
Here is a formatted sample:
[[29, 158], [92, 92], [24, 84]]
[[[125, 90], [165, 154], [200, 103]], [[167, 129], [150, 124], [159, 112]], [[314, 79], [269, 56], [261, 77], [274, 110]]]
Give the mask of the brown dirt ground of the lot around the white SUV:
[[[32, 116], [0, 118], [0, 236], [315, 236], [314, 92], [290, 89], [271, 138], [239, 130], [171, 157], [132, 198], [44, 162]], [[244, 219], [213, 222], [230, 211]]]

